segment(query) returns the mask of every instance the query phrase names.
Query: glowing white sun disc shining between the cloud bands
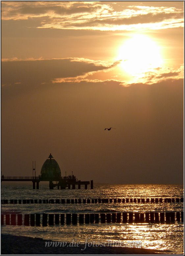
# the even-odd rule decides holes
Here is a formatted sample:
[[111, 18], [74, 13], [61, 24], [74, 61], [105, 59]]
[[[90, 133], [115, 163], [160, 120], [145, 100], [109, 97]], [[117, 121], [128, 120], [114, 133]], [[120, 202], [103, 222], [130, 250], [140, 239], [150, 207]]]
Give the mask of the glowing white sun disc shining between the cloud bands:
[[162, 65], [160, 47], [149, 36], [133, 35], [118, 50], [121, 68], [132, 76], [141, 75]]

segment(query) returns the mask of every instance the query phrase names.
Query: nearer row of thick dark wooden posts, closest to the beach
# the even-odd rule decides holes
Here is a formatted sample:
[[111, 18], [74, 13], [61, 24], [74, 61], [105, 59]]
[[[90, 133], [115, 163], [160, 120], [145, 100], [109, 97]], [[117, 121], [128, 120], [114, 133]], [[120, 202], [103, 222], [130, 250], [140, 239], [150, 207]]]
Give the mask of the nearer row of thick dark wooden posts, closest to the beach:
[[[85, 216], [84, 216], [85, 215]], [[1, 214], [1, 225], [40, 226], [40, 213], [36, 214]], [[71, 218], [72, 217], [72, 218]], [[84, 218], [85, 217], [85, 218]], [[99, 219], [100, 217], [100, 219]], [[55, 220], [55, 221], [54, 221]], [[66, 220], [66, 221], [65, 221]], [[89, 224], [89, 223], [174, 223], [184, 221], [184, 212], [118, 212], [118, 213], [66, 213], [42, 214], [42, 226], [54, 224]]]

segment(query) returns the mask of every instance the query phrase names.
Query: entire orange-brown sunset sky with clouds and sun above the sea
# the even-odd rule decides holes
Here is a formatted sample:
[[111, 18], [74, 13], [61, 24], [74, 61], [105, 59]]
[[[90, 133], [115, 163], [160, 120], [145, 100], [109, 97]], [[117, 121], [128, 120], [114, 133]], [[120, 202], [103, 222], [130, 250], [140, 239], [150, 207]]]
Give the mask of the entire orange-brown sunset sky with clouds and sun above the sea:
[[[183, 1], [1, 1], [1, 171], [183, 183]], [[105, 130], [113, 127], [115, 129]]]

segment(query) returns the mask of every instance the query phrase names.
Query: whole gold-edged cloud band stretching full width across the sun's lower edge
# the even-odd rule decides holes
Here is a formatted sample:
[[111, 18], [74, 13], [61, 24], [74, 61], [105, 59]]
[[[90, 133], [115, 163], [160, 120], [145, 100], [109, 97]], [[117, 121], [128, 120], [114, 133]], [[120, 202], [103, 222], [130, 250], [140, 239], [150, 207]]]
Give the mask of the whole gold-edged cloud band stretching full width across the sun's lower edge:
[[[110, 83], [128, 87], [133, 82], [126, 82], [119, 77], [115, 62], [92, 60], [86, 58], [63, 59], [2, 59], [2, 86], [38, 86], [46, 84], [75, 83]], [[113, 73], [112, 73], [113, 70]], [[117, 74], [116, 76], [114, 74]], [[178, 69], [154, 68], [137, 78], [138, 83], [155, 84], [166, 80], [183, 79], [184, 66]], [[103, 79], [102, 79], [103, 78]], [[116, 79], [115, 79], [116, 78]]]

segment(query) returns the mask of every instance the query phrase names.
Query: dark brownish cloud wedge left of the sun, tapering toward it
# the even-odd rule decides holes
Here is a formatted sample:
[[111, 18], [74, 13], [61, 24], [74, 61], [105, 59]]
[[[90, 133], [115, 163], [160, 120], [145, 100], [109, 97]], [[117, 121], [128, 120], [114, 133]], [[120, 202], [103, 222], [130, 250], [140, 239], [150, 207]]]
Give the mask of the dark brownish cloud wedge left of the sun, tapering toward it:
[[85, 58], [63, 59], [3, 59], [1, 64], [2, 85], [40, 85], [77, 81], [98, 71], [107, 71], [119, 64], [119, 61], [95, 61]]

